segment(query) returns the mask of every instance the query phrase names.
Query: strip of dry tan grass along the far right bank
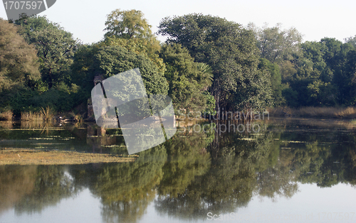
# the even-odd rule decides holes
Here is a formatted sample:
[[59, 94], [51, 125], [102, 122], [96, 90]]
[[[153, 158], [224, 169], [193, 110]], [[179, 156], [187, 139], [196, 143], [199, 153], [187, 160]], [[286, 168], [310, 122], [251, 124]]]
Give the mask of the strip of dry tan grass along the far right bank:
[[302, 107], [299, 109], [290, 108], [271, 108], [268, 109], [271, 116], [300, 116], [313, 118], [344, 118], [355, 119], [355, 107]]

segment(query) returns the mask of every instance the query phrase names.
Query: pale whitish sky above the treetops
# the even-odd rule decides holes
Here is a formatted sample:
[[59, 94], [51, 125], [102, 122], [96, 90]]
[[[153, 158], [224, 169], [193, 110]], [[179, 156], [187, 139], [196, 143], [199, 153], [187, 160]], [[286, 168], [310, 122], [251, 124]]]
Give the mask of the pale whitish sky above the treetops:
[[[249, 22], [257, 26], [263, 26], [264, 23], [268, 23], [268, 26], [282, 23], [283, 28], [297, 28], [304, 35], [304, 40], [320, 40], [324, 37], [343, 40], [356, 35], [356, 1], [350, 0], [57, 0], [56, 4], [41, 15], [59, 23], [83, 43], [93, 43], [103, 38], [106, 15], [115, 9], [141, 10], [152, 25], [153, 31], [157, 31], [159, 21], [166, 16], [182, 16], [196, 12], [220, 16], [244, 26]], [[6, 18], [4, 5], [0, 6], [0, 17]]]

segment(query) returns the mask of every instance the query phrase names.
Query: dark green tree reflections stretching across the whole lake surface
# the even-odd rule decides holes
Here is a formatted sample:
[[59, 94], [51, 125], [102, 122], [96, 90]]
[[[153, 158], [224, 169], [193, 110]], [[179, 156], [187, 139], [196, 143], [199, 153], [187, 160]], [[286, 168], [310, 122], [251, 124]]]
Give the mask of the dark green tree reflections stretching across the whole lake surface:
[[[100, 199], [103, 222], [137, 222], [149, 205], [162, 216], [196, 220], [207, 212], [246, 207], [253, 196], [293, 197], [298, 183], [356, 185], [352, 122], [325, 126], [320, 120], [274, 119], [258, 122], [259, 132], [241, 133], [221, 133], [220, 124], [199, 124], [200, 131], [180, 129], [166, 143], [138, 153], [132, 163], [0, 166], [0, 214], [11, 208], [18, 215], [42, 212], [89, 188]], [[31, 138], [53, 138], [64, 142], [53, 148], [127, 152], [120, 129], [67, 126], [47, 134], [6, 129], [9, 124], [1, 128], [1, 147], [11, 141], [19, 146], [21, 140], [36, 142], [36, 147]]]

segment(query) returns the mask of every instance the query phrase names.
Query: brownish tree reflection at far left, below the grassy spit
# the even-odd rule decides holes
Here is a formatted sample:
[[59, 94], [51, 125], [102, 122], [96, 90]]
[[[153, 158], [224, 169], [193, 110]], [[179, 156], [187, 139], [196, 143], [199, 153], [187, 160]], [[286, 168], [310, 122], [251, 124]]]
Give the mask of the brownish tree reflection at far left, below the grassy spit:
[[61, 165], [1, 166], [0, 178], [1, 210], [14, 206], [16, 214], [41, 212], [80, 189]]

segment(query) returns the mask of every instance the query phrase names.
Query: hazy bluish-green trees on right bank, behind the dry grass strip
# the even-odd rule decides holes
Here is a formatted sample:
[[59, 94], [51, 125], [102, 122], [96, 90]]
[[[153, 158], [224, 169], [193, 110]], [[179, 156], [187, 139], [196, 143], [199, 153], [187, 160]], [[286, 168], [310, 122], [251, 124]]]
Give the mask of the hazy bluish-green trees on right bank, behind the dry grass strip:
[[302, 43], [295, 28], [249, 28], [271, 73], [276, 105], [355, 106], [356, 36]]

